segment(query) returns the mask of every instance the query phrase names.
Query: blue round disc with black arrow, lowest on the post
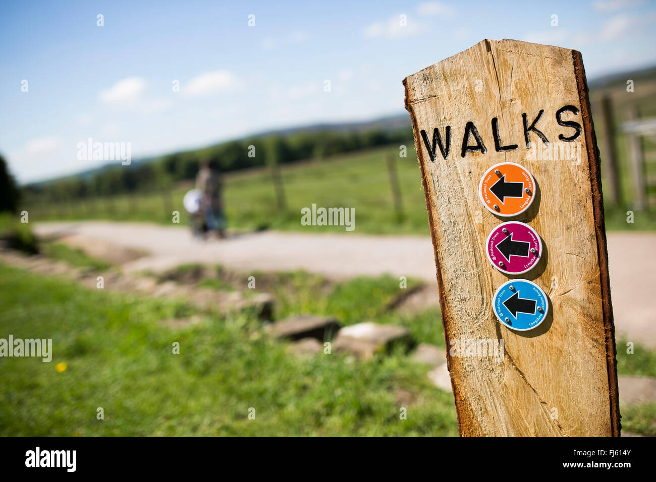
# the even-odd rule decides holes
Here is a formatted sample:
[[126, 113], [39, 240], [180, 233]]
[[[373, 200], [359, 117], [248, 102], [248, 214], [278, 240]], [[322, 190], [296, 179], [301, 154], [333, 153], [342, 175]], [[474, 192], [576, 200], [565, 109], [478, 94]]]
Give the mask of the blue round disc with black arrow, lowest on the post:
[[549, 311], [544, 291], [527, 279], [511, 279], [503, 283], [495, 292], [493, 303], [499, 321], [517, 331], [534, 329]]

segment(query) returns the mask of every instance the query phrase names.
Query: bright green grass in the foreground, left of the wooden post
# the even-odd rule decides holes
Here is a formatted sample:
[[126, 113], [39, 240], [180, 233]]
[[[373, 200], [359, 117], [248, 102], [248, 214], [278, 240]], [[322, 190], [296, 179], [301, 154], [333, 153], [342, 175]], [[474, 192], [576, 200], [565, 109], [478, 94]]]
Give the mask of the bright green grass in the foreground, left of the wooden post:
[[51, 363], [0, 358], [3, 436], [457, 435], [453, 396], [398, 351], [366, 362], [295, 357], [243, 315], [203, 315], [174, 331], [159, 321], [190, 314], [183, 303], [1, 265], [0, 305], [0, 336], [52, 338], [54, 352]]

